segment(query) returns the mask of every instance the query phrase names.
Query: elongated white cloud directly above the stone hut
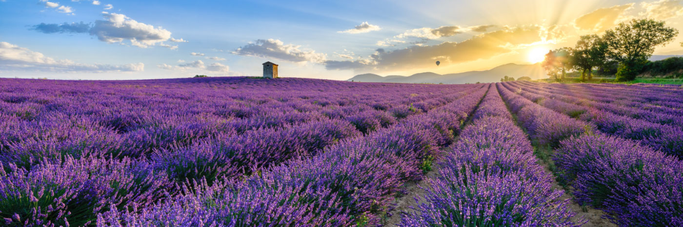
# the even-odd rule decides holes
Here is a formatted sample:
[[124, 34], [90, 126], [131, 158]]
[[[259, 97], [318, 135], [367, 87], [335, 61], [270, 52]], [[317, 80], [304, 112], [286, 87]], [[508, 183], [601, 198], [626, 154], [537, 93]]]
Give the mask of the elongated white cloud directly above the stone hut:
[[301, 50], [299, 48], [301, 46], [285, 45], [278, 39], [257, 39], [255, 42], [242, 46], [232, 53], [243, 56], [277, 58], [295, 63], [322, 63], [326, 60], [325, 54], [316, 53], [315, 50]]

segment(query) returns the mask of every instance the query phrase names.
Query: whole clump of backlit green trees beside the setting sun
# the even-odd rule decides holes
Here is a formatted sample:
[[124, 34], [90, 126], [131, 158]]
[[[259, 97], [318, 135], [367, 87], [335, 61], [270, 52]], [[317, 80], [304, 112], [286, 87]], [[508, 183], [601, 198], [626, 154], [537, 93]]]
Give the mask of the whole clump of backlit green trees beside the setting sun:
[[590, 80], [594, 67], [599, 67], [598, 71], [616, 73], [619, 81], [633, 80], [648, 63], [654, 48], [670, 43], [676, 35], [678, 30], [666, 27], [664, 21], [634, 19], [605, 31], [602, 37], [583, 35], [574, 48], [551, 50], [542, 66], [556, 80], [564, 79], [566, 72], [572, 69], [581, 71], [581, 80], [585, 80], [586, 75]]

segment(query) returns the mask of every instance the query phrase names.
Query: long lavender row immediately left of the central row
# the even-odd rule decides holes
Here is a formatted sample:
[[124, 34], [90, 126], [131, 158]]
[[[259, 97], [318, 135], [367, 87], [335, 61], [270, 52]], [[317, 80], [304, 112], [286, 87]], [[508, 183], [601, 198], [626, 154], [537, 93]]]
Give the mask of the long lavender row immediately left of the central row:
[[411, 116], [311, 158], [295, 158], [241, 181], [184, 185], [171, 200], [143, 209], [115, 207], [101, 226], [351, 226], [380, 221], [406, 181], [419, 180], [488, 90]]

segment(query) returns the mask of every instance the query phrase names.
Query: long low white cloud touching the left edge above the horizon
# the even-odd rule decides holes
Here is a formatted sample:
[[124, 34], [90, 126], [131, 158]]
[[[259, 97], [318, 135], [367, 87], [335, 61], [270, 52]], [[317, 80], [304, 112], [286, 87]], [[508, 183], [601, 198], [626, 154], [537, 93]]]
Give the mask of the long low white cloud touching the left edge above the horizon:
[[92, 72], [144, 71], [145, 64], [127, 65], [82, 64], [72, 60], [55, 60], [40, 52], [0, 42], [0, 69], [20, 71]]

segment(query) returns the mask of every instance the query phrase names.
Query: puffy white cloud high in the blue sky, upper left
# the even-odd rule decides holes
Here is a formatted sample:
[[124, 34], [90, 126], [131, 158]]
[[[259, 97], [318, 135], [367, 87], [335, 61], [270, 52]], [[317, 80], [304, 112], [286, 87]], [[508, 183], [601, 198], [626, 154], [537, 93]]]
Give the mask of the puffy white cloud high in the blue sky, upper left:
[[124, 14], [103, 12], [103, 15], [106, 20], [96, 20], [89, 31], [90, 35], [96, 35], [100, 41], [120, 43], [127, 39], [133, 46], [148, 48], [171, 38], [170, 31], [137, 22]]

